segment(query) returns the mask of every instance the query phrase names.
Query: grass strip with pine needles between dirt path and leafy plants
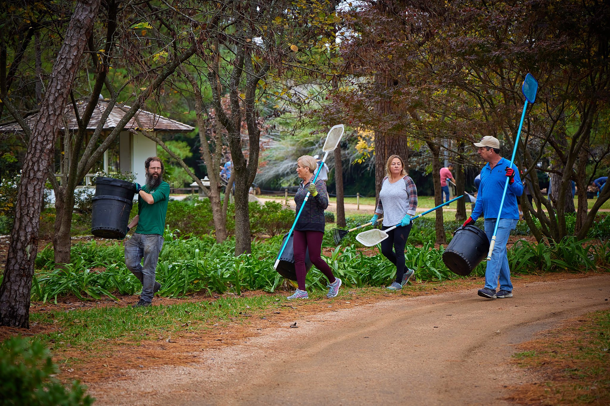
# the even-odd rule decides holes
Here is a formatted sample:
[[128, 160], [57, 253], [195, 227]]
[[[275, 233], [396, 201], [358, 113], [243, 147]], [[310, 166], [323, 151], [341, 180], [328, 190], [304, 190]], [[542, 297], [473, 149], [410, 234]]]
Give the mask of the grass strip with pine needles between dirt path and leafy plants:
[[[305, 309], [307, 306], [343, 304], [346, 300], [355, 300], [353, 303], [357, 303], [362, 299], [368, 302], [390, 299], [392, 296], [419, 296], [463, 289], [476, 283], [466, 278], [458, 281], [419, 282], [396, 293], [379, 287], [344, 288], [334, 299], [326, 299], [325, 290], [310, 290], [309, 299], [297, 302], [285, 300], [290, 292], [251, 292], [242, 296], [229, 294], [196, 301], [184, 299], [169, 305], [157, 305], [156, 302], [156, 306], [137, 309], [132, 309], [129, 305], [110, 305], [62, 310], [49, 304], [45, 310], [30, 314], [30, 325], [38, 332], [29, 338], [40, 340], [54, 352], [66, 348], [91, 351], [99, 348], [100, 343], [139, 343], [142, 340], [157, 339], [159, 335], [185, 331], [205, 334], [213, 324], [248, 323], [253, 318], [268, 316], [285, 306], [303, 306]], [[40, 306], [45, 305], [40, 303]]]

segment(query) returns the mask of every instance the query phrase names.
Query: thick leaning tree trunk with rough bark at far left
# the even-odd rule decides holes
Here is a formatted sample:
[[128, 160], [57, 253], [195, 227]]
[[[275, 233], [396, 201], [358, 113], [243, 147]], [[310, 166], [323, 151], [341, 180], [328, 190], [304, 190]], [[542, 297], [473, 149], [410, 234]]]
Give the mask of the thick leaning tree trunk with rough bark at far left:
[[38, 121], [31, 130], [21, 170], [15, 223], [11, 231], [4, 279], [0, 286], [0, 324], [3, 326], [29, 328], [30, 291], [38, 252], [38, 228], [45, 181], [53, 159], [61, 114], [76, 77], [82, 52], [91, 35], [100, 1], [77, 2], [51, 72]]

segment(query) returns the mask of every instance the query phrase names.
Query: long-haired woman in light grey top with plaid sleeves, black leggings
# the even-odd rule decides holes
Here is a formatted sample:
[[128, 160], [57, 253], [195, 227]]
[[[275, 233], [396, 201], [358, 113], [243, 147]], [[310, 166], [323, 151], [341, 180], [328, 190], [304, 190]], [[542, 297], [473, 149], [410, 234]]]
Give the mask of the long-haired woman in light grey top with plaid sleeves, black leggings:
[[381, 242], [381, 253], [396, 265], [396, 280], [387, 289], [398, 290], [402, 289], [415, 272], [410, 268], [405, 271], [404, 246], [411, 232], [411, 217], [415, 215], [417, 209], [417, 187], [407, 175], [404, 161], [398, 155], [388, 158], [386, 175], [381, 184], [379, 203], [371, 222], [375, 224], [379, 215], [383, 214], [382, 230], [398, 225], [397, 228], [388, 231], [389, 237]]

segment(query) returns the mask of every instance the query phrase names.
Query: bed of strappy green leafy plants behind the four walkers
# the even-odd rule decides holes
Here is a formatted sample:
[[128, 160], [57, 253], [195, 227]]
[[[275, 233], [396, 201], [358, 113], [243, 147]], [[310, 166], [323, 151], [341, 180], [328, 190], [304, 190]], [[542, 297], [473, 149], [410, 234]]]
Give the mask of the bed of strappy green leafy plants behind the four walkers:
[[[444, 247], [434, 248], [433, 220], [422, 219], [414, 224], [406, 247], [406, 264], [415, 269], [419, 281], [443, 281], [459, 278], [442, 261]], [[348, 226], [360, 223], [350, 219]], [[449, 226], [458, 226], [449, 225]], [[377, 251], [363, 250], [356, 245], [356, 233], [348, 234], [342, 245], [325, 257], [345, 287], [378, 287], [392, 281], [395, 267]], [[181, 236], [167, 229], [165, 243], [157, 265], [157, 281], [162, 284], [159, 294], [177, 298], [188, 293], [231, 292], [239, 295], [246, 290], [274, 292], [283, 279], [273, 269], [279, 252], [281, 236], [257, 240], [253, 252], [235, 257], [234, 240], [216, 243], [213, 237]], [[325, 247], [334, 247], [330, 233], [325, 233]], [[377, 252], [377, 253], [376, 253]], [[72, 248], [72, 264], [56, 268], [52, 247], [38, 253], [32, 299], [56, 301], [72, 294], [79, 299], [101, 296], [133, 295], [141, 289], [140, 282], [124, 264], [123, 243], [102, 245], [92, 241], [77, 243]], [[577, 241], [566, 237], [561, 243], [531, 243], [519, 241], [508, 251], [513, 273], [542, 271], [587, 271], [603, 268], [610, 262], [610, 242]], [[484, 275], [485, 264], [479, 264], [472, 275]], [[326, 279], [315, 268], [307, 274], [312, 290], [325, 290]]]

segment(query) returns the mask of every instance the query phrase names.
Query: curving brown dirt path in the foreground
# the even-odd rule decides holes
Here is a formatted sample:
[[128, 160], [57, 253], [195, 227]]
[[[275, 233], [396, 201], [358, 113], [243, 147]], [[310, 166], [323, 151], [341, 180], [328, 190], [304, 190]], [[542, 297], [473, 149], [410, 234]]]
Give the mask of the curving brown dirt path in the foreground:
[[568, 318], [609, 309], [610, 275], [394, 299], [265, 329], [207, 349], [201, 363], [128, 371], [90, 387], [103, 405], [508, 404], [527, 382], [514, 345]]

